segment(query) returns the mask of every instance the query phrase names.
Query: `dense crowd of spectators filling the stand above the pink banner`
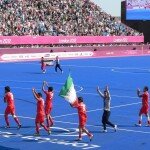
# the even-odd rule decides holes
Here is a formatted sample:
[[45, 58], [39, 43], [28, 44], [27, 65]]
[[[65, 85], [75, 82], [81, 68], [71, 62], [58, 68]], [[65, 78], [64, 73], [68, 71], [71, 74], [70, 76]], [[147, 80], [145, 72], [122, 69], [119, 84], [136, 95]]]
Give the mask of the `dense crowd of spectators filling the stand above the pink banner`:
[[0, 35], [139, 35], [90, 0], [0, 0]]

